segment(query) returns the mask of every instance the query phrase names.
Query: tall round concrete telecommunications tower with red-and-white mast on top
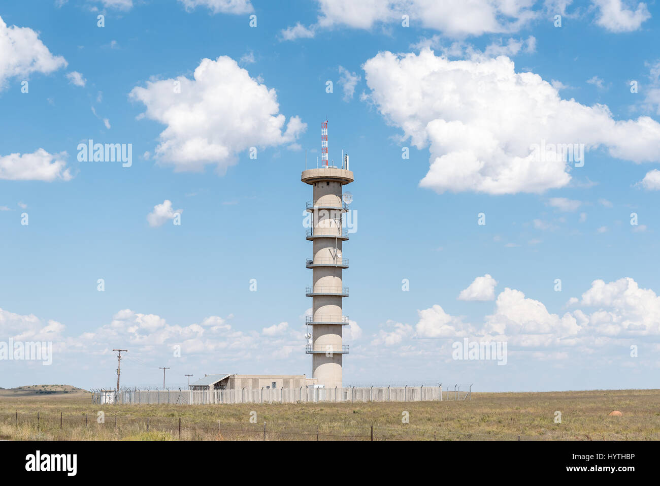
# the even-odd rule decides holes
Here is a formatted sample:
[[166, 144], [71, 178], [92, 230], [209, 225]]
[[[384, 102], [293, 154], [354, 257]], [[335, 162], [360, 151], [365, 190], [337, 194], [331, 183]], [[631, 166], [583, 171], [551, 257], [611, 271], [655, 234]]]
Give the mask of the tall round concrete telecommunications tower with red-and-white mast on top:
[[301, 176], [313, 188], [312, 201], [306, 204], [312, 216], [307, 230], [312, 258], [306, 260], [306, 267], [312, 269], [312, 287], [306, 289], [306, 295], [312, 297], [312, 316], [307, 316], [306, 323], [312, 326], [312, 333], [307, 334], [306, 353], [312, 355], [312, 377], [325, 388], [341, 388], [342, 360], [348, 354], [348, 346], [341, 341], [343, 326], [348, 325], [348, 316], [342, 312], [348, 287], [343, 287], [341, 273], [348, 268], [342, 255], [348, 232], [342, 223], [351, 197], [342, 193], [342, 186], [353, 182], [353, 173], [348, 170], [348, 155], [342, 159], [341, 168], [328, 165], [326, 120], [321, 123], [321, 167], [304, 170]]

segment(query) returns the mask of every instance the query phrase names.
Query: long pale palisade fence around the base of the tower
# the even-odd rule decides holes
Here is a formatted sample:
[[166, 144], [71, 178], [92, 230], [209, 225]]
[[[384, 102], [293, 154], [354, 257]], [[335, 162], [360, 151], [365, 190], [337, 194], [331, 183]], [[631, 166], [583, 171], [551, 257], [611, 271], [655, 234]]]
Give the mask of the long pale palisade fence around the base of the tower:
[[[447, 399], [456, 399], [446, 392]], [[351, 388], [261, 388], [242, 390], [92, 390], [92, 403], [209, 405], [213, 403], [317, 403], [353, 401], [442, 401], [442, 386]]]

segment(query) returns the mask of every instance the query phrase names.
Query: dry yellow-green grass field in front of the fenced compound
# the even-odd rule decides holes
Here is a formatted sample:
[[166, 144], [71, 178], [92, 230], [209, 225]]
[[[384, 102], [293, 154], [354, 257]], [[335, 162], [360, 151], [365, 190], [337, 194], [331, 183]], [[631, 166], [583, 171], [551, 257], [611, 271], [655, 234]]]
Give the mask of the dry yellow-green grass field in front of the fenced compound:
[[[0, 390], [0, 438], [370, 440], [373, 430], [374, 440], [660, 439], [660, 390], [473, 393], [471, 401], [406, 403], [93, 405], [88, 392], [51, 387]], [[614, 410], [622, 417], [609, 416]]]

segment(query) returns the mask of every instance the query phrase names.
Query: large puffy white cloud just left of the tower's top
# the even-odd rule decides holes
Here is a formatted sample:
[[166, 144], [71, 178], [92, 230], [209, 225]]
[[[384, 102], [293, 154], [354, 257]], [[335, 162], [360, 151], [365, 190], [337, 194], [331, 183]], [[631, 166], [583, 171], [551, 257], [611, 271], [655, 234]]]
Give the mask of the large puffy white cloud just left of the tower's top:
[[286, 123], [275, 89], [226, 56], [202, 59], [193, 79], [149, 81], [133, 88], [129, 97], [147, 106], [147, 118], [167, 125], [154, 156], [178, 171], [215, 164], [224, 174], [238, 153], [293, 143], [307, 127], [298, 116]]

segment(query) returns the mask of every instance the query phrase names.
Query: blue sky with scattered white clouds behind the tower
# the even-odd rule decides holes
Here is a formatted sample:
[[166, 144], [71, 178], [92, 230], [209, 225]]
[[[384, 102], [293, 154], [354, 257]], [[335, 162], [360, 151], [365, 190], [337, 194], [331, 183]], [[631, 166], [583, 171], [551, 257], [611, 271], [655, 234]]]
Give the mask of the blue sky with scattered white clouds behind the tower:
[[[300, 171], [327, 119], [358, 215], [345, 384], [657, 388], [657, 3], [449, 4], [3, 4], [0, 341], [55, 352], [0, 386], [110, 386], [116, 347], [127, 385], [310, 375]], [[132, 165], [80, 162], [89, 139]], [[506, 366], [452, 359], [464, 337]]]

